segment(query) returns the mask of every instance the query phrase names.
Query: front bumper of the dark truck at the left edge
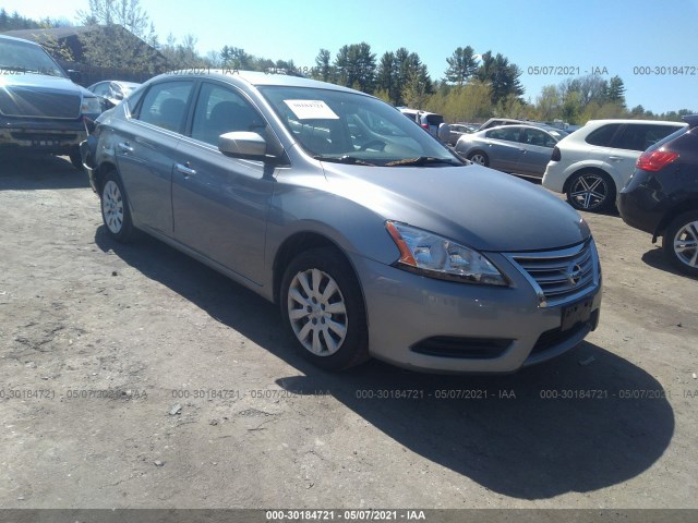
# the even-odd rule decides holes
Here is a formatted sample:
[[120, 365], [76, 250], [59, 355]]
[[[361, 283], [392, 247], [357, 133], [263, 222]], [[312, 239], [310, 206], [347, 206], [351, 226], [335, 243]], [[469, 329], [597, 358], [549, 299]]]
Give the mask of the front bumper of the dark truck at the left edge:
[[0, 148], [69, 154], [87, 137], [80, 120], [0, 119]]

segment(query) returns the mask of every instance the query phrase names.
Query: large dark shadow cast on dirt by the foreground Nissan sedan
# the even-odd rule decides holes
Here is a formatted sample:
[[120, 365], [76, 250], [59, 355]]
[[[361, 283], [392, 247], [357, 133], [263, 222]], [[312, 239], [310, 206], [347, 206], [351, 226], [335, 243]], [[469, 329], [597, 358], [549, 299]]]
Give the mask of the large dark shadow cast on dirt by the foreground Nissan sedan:
[[377, 361], [327, 374], [291, 349], [277, 307], [251, 291], [147, 238], [123, 246], [101, 227], [95, 241], [294, 367], [281, 388], [332, 394], [409, 451], [495, 492], [533, 500], [609, 487], [648, 470], [672, 439], [660, 384], [593, 343], [508, 376], [430, 376]]

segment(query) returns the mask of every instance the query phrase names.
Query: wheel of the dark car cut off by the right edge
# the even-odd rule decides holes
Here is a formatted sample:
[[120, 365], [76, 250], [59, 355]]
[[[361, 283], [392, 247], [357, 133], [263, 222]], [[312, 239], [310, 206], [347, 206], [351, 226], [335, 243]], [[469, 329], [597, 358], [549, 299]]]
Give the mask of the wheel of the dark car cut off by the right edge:
[[666, 259], [682, 272], [698, 277], [698, 210], [674, 218], [662, 238]]

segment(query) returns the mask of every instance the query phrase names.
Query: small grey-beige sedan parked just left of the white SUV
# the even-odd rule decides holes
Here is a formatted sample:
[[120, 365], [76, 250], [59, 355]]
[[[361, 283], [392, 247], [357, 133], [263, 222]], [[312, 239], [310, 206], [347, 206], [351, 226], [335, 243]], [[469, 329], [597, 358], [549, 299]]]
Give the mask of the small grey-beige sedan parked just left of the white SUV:
[[543, 178], [564, 131], [537, 125], [502, 125], [462, 135], [456, 151], [473, 163], [504, 172]]

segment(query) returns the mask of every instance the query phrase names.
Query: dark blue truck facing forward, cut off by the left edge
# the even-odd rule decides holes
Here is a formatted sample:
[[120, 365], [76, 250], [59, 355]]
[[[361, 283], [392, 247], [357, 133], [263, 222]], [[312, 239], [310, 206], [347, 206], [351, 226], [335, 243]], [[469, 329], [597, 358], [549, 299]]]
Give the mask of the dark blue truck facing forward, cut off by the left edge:
[[33, 41], [0, 36], [0, 150], [68, 155], [82, 169], [85, 118], [99, 115], [99, 100], [75, 85]]

